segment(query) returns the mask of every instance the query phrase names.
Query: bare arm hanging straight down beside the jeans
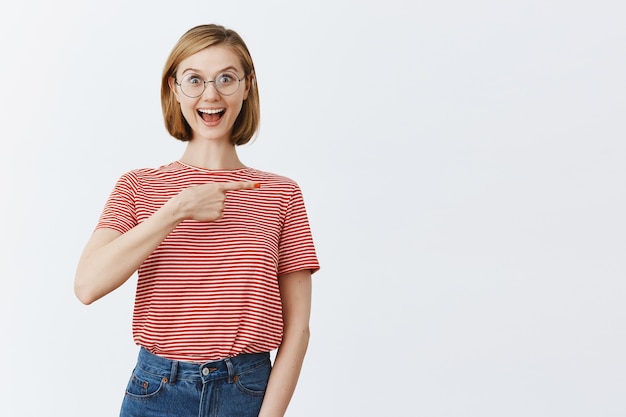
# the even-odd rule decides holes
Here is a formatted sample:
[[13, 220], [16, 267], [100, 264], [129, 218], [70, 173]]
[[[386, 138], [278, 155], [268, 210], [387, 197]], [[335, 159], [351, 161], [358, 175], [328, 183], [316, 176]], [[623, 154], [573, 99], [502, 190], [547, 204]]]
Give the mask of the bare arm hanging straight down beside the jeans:
[[283, 341], [276, 354], [259, 417], [282, 417], [295, 391], [309, 344], [311, 272], [278, 278], [283, 306]]

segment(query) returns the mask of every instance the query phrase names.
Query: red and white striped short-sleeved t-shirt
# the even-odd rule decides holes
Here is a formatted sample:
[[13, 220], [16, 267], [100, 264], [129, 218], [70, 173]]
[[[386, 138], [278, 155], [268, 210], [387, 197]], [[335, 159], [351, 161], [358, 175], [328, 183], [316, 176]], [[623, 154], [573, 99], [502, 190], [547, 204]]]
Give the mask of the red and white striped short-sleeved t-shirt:
[[227, 192], [220, 220], [181, 222], [138, 270], [133, 338], [152, 353], [206, 362], [277, 348], [278, 275], [319, 269], [298, 184], [251, 168], [214, 171], [176, 161], [130, 171], [97, 228], [125, 233], [182, 189], [228, 181], [261, 188]]

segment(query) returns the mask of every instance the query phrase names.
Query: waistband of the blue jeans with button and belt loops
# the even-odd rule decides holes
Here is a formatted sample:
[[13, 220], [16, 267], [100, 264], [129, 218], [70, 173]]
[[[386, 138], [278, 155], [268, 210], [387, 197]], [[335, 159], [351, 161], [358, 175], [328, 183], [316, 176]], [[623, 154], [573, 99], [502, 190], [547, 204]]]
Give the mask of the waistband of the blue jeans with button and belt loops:
[[177, 380], [181, 379], [207, 381], [228, 378], [229, 382], [232, 382], [237, 374], [269, 361], [269, 359], [269, 352], [263, 352], [242, 353], [213, 362], [184, 362], [155, 355], [141, 347], [137, 366], [146, 372], [168, 378], [168, 382], [171, 384], [175, 384]]

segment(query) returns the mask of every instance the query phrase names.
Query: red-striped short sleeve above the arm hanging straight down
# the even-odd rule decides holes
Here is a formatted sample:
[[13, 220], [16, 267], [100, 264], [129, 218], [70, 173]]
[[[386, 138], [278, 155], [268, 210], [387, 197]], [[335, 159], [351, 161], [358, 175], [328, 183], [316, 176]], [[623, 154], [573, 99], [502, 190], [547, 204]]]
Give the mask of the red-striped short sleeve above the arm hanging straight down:
[[278, 274], [308, 269], [319, 270], [313, 236], [304, 205], [302, 191], [295, 186], [280, 236], [278, 246]]

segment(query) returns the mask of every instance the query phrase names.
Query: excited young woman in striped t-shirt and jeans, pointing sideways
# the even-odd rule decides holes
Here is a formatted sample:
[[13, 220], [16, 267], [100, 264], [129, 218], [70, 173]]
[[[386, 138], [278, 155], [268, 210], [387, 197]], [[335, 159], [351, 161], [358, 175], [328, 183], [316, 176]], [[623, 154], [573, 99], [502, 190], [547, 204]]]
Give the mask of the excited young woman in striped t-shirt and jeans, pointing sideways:
[[75, 279], [90, 304], [138, 272], [139, 357], [121, 416], [283, 416], [319, 264], [297, 183], [238, 158], [260, 115], [241, 37], [218, 25], [185, 33], [166, 62], [161, 103], [186, 149], [122, 175]]

